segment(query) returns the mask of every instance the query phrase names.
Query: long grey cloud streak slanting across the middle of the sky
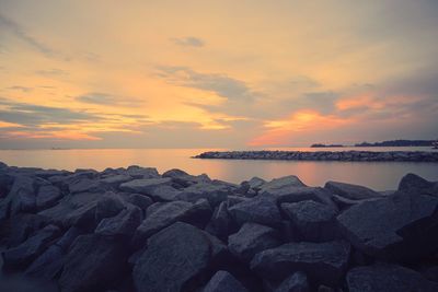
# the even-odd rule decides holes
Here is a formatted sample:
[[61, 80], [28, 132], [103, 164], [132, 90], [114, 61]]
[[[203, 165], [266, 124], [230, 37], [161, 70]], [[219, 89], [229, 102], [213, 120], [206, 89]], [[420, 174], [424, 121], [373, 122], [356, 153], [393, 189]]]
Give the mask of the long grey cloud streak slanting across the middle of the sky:
[[215, 92], [229, 100], [250, 101], [255, 93], [245, 82], [218, 73], [199, 73], [187, 67], [159, 67], [159, 77], [180, 86]]

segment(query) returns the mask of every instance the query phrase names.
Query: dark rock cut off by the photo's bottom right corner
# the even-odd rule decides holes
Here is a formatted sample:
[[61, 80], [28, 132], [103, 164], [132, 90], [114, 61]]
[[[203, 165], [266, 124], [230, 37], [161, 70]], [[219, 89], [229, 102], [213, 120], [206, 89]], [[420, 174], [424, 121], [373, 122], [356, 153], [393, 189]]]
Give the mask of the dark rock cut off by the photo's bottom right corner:
[[395, 265], [357, 267], [347, 273], [349, 292], [411, 292], [438, 291], [438, 283], [430, 282], [414, 270]]

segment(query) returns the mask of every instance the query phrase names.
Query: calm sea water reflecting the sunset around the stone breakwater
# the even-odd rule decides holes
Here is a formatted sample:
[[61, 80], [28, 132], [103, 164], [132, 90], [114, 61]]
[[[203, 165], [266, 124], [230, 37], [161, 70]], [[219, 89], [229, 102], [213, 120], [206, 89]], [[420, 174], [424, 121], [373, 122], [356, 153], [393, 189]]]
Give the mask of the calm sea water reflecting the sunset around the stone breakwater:
[[[401, 177], [415, 173], [438, 180], [438, 163], [412, 162], [312, 162], [195, 160], [191, 156], [211, 149], [93, 149], [93, 150], [0, 150], [0, 161], [16, 166], [73, 171], [76, 168], [153, 166], [159, 172], [181, 168], [189, 174], [206, 173], [211, 178], [240, 183], [253, 176], [272, 179], [297, 175], [310, 186], [341, 180], [370, 186], [377, 190], [396, 188]], [[281, 150], [337, 151], [342, 149], [289, 148]], [[430, 148], [354, 148], [368, 151], [433, 151]]]

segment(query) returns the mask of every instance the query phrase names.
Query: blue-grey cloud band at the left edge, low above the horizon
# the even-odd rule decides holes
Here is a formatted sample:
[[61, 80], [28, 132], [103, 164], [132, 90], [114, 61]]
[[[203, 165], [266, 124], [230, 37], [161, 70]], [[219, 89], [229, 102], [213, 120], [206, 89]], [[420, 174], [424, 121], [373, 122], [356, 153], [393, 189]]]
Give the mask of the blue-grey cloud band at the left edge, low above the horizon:
[[101, 120], [101, 117], [85, 112], [16, 103], [5, 98], [0, 98], [0, 105], [3, 107], [0, 109], [1, 120], [25, 126], [42, 125], [47, 122], [76, 124], [79, 121]]

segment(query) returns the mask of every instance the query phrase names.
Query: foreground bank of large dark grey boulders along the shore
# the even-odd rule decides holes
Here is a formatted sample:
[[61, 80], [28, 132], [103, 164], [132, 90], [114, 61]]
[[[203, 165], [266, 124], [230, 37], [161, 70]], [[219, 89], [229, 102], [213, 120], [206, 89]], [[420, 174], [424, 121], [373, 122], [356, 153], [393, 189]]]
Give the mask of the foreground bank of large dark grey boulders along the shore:
[[60, 291], [438, 291], [438, 183], [0, 163], [3, 270]]

